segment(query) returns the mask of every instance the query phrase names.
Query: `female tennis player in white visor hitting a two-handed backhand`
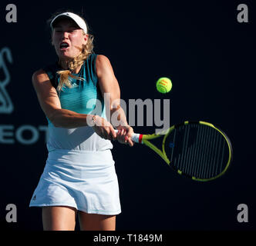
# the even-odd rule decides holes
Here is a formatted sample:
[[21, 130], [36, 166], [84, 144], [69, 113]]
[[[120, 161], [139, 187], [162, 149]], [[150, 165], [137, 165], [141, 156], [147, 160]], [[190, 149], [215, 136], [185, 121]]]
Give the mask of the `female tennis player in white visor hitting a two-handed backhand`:
[[62, 12], [50, 27], [58, 62], [32, 76], [49, 121], [49, 154], [29, 206], [42, 207], [44, 230], [74, 230], [78, 214], [81, 230], [113, 231], [121, 208], [111, 140], [133, 146], [133, 128], [109, 59], [93, 53], [86, 21]]

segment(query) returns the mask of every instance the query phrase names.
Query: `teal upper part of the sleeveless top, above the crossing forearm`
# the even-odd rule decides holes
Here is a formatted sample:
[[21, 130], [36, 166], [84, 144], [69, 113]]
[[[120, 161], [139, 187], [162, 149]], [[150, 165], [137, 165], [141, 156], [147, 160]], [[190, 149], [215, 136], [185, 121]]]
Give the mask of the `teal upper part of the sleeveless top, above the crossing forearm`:
[[[63, 85], [59, 91], [59, 101], [62, 108], [75, 111], [79, 114], [93, 114], [106, 118], [106, 108], [103, 96], [99, 90], [98, 78], [96, 76], [96, 54], [91, 54], [83, 63], [78, 74], [73, 74], [84, 78], [83, 81], [69, 77], [72, 88]], [[57, 88], [59, 85], [59, 75], [57, 71], [63, 70], [58, 62], [49, 65], [43, 70], [49, 76], [52, 85]]]

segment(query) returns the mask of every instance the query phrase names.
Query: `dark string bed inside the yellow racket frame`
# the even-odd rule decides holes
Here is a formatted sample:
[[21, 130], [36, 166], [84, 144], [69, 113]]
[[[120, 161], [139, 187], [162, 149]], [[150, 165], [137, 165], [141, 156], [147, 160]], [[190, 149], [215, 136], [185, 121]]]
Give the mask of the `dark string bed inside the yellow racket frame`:
[[182, 125], [174, 130], [171, 163], [183, 175], [211, 178], [224, 171], [227, 144], [219, 131], [207, 125]]

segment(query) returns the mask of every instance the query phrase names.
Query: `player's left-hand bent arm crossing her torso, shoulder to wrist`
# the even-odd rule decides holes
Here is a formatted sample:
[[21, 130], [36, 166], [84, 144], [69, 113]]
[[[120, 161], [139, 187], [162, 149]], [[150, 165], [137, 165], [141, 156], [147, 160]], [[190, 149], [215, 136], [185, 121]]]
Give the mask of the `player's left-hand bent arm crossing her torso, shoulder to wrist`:
[[75, 111], [61, 108], [56, 89], [52, 86], [48, 75], [42, 69], [35, 71], [32, 75], [32, 85], [35, 88], [42, 111], [44, 111], [46, 117], [49, 118], [54, 126], [60, 128], [86, 126], [86, 118], [93, 117], [93, 115], [78, 114]]

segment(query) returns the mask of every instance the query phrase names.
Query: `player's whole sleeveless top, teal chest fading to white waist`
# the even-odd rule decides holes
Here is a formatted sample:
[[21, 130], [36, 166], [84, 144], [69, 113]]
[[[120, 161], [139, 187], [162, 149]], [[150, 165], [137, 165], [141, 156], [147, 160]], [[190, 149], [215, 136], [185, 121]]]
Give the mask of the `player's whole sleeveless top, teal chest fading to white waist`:
[[[72, 88], [63, 86], [59, 91], [61, 107], [79, 114], [99, 115], [106, 118], [106, 107], [104, 99], [99, 90], [98, 78], [96, 75], [96, 57], [91, 54], [83, 62], [78, 74], [74, 74], [83, 81], [71, 78]], [[57, 71], [63, 70], [58, 62], [43, 68], [54, 88], [59, 85]], [[113, 148], [111, 141], [100, 138], [89, 126], [79, 128], [56, 128], [49, 122], [49, 138], [47, 148], [49, 151], [65, 149], [72, 151], [105, 151]]]

